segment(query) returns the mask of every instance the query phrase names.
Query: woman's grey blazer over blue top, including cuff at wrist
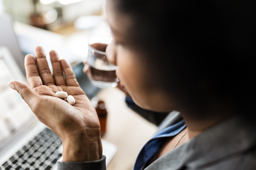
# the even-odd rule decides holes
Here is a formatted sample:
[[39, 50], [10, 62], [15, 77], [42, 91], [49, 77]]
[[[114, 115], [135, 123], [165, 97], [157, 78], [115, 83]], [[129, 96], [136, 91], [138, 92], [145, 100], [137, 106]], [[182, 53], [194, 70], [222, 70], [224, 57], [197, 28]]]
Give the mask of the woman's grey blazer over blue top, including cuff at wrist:
[[[159, 130], [182, 119], [171, 112]], [[58, 170], [106, 170], [106, 157], [90, 162], [58, 162]], [[145, 170], [256, 170], [256, 128], [239, 116], [221, 122], [176, 147]]]

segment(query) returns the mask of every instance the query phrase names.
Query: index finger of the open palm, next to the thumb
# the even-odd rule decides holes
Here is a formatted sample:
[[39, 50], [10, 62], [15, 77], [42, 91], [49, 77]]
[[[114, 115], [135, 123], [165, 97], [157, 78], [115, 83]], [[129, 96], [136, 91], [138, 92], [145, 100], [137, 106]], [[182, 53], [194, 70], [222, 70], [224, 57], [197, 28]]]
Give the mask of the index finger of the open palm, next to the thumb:
[[31, 88], [36, 88], [43, 84], [41, 77], [36, 67], [36, 61], [33, 55], [26, 55], [25, 57], [25, 69], [27, 75], [27, 81]]

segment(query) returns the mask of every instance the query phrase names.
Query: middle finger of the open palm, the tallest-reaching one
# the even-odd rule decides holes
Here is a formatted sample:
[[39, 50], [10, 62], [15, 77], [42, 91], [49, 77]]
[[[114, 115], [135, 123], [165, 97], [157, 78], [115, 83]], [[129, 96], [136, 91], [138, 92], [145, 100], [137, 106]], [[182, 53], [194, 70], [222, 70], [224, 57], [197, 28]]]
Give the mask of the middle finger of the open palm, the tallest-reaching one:
[[45, 51], [42, 47], [36, 47], [35, 56], [37, 68], [43, 84], [46, 86], [54, 85], [54, 80], [45, 57]]

